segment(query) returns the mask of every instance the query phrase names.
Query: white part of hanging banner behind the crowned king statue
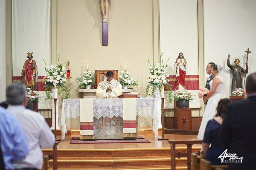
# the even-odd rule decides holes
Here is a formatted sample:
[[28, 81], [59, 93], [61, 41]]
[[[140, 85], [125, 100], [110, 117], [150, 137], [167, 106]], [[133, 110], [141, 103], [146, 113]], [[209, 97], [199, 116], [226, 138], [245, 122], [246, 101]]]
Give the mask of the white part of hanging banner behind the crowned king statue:
[[33, 52], [38, 75], [50, 61], [50, 1], [12, 0], [12, 71], [20, 76], [27, 52]]

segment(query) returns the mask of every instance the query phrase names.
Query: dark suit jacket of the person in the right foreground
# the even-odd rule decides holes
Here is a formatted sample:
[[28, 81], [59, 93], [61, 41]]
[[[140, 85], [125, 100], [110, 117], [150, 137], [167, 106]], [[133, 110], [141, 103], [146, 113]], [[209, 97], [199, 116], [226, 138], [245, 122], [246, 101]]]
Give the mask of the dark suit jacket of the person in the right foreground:
[[241, 164], [229, 164], [229, 170], [256, 170], [256, 96], [228, 105], [220, 138], [228, 153], [244, 157]]

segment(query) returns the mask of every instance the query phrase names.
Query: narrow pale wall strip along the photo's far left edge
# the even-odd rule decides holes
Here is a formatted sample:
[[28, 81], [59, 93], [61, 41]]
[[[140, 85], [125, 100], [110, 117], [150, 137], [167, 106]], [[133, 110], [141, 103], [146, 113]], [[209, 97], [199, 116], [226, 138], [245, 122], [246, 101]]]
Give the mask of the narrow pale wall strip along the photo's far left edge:
[[0, 102], [6, 89], [6, 0], [0, 0]]

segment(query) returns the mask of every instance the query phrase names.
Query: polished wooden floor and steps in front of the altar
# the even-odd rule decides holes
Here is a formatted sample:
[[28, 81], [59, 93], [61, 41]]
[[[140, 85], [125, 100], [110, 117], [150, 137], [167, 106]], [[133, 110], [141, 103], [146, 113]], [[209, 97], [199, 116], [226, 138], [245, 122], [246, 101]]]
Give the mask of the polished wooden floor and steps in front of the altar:
[[[170, 169], [170, 144], [158, 141], [154, 134], [140, 134], [151, 143], [70, 144], [71, 136], [58, 145], [58, 170], [167, 170]], [[161, 136], [161, 134], [159, 135]], [[165, 135], [169, 139], [197, 139], [195, 135]], [[52, 155], [52, 149], [42, 149]], [[201, 144], [192, 146], [192, 152]], [[186, 145], [176, 146], [186, 152]], [[186, 170], [186, 158], [176, 158], [177, 169]], [[52, 160], [49, 161], [52, 169]]]

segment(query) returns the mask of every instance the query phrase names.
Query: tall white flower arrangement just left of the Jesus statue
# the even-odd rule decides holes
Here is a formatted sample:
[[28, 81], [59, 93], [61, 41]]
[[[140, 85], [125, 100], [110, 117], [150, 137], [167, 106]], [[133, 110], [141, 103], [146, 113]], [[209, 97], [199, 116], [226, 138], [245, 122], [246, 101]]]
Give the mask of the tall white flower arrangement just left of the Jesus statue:
[[148, 96], [150, 86], [153, 88], [152, 93], [154, 93], [155, 88], [161, 90], [161, 86], [164, 85], [164, 87], [167, 89], [168, 102], [172, 103], [172, 88], [166, 80], [166, 78], [169, 77], [169, 74], [167, 74], [167, 62], [170, 58], [168, 58], [166, 62], [163, 62], [162, 55], [163, 53], [160, 55], [158, 62], [155, 65], [151, 65], [148, 58], [150, 75], [148, 76], [148, 85], [146, 87], [145, 97]]

